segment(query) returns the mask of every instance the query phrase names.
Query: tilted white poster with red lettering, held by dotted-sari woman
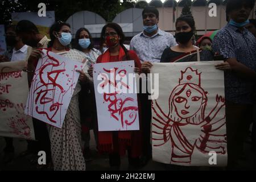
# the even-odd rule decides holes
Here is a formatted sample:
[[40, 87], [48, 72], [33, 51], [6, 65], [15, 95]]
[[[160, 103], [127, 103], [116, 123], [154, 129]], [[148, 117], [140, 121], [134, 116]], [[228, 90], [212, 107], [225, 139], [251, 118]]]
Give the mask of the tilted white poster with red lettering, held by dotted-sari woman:
[[43, 50], [32, 80], [25, 112], [61, 128], [83, 63]]

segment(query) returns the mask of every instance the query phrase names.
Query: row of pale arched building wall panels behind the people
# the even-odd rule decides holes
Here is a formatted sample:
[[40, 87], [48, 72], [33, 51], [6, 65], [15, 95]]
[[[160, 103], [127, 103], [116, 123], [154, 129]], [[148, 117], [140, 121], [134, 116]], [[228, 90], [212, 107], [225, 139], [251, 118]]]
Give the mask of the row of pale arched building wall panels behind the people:
[[[164, 31], [175, 34], [175, 21], [181, 15], [182, 9], [183, 7], [177, 6], [174, 13], [174, 9], [172, 7], [158, 8], [159, 27]], [[192, 6], [191, 12], [195, 19], [197, 35], [204, 35], [208, 31], [219, 30], [224, 27], [226, 25], [225, 9], [226, 8], [223, 5], [217, 6], [217, 16], [210, 17], [210, 9], [208, 6]], [[256, 3], [254, 10], [251, 12], [250, 18], [255, 18], [255, 10]], [[123, 31], [125, 32], [125, 36], [133, 37], [142, 31], [143, 21], [141, 13], [142, 9], [127, 9], [115, 16], [113, 22], [121, 24], [121, 27], [123, 27]], [[93, 32], [92, 34], [93, 38], [100, 37], [100, 29], [105, 24], [105, 20], [101, 18], [101, 16], [89, 11], [77, 12], [69, 17], [67, 22], [72, 26], [73, 35], [80, 27], [89, 27], [89, 29], [92, 27], [89, 31], [97, 29], [97, 32]]]

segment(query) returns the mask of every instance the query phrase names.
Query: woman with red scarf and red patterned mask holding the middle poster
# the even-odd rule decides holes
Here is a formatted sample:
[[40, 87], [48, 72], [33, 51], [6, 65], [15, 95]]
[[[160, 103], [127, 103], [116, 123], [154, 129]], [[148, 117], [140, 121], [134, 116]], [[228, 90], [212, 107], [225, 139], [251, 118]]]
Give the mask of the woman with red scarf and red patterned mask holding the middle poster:
[[[134, 60], [134, 72], [139, 73], [141, 70], [141, 62], [134, 51], [127, 51], [123, 46], [124, 40], [125, 35], [123, 34], [122, 28], [117, 23], [106, 24], [101, 31], [101, 41], [106, 42], [109, 48], [103, 55], [98, 57], [97, 63]], [[93, 68], [90, 68], [88, 73], [92, 76]], [[140, 106], [139, 116], [141, 116]], [[139, 118], [139, 122], [141, 125], [141, 118]], [[119, 169], [121, 164], [120, 156], [125, 155], [126, 150], [129, 155], [129, 167], [139, 167], [141, 146], [141, 130], [98, 132], [98, 150], [100, 152], [108, 152], [109, 164], [113, 169]]]

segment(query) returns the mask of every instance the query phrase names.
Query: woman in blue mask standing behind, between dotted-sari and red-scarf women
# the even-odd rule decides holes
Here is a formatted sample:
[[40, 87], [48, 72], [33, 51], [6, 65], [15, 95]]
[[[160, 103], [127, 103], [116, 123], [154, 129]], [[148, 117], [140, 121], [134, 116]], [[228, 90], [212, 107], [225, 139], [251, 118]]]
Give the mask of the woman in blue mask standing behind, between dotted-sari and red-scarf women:
[[[101, 52], [94, 48], [93, 38], [89, 30], [86, 28], [79, 28], [75, 36], [75, 48], [82, 56], [88, 61], [85, 65], [85, 70], [88, 70], [93, 64], [96, 63], [98, 56]], [[81, 124], [82, 124], [82, 140], [84, 141], [84, 158], [85, 161], [92, 160], [92, 154], [90, 151], [90, 129], [93, 129], [94, 139], [97, 141], [97, 128], [96, 128], [96, 109], [94, 109], [93, 92], [89, 92], [89, 85], [82, 86], [82, 92], [79, 95], [79, 104], [81, 111]], [[88, 101], [88, 98], [92, 100]], [[84, 102], [86, 101], [86, 102]], [[86, 113], [84, 112], [86, 110]]]

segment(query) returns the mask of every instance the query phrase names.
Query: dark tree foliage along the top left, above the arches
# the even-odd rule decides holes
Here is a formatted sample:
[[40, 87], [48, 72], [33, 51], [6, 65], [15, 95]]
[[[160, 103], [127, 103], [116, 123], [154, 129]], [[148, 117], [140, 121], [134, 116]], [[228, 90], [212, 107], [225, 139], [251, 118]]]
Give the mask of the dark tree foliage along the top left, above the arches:
[[0, 24], [8, 24], [11, 13], [39, 10], [39, 3], [46, 4], [47, 11], [55, 11], [56, 20], [65, 21], [78, 11], [92, 11], [111, 22], [121, 11], [133, 7], [135, 0], [0, 0]]

